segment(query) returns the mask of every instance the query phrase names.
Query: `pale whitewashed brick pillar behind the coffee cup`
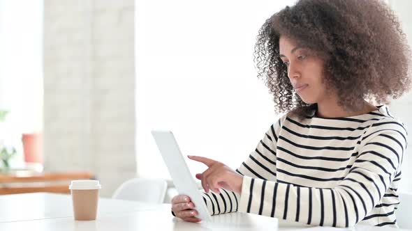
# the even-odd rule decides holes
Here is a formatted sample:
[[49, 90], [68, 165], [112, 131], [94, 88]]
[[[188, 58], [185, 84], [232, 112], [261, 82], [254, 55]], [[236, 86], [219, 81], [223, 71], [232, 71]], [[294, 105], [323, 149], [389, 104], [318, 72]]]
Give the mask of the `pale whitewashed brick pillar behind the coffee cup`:
[[45, 0], [45, 170], [135, 177], [134, 1]]

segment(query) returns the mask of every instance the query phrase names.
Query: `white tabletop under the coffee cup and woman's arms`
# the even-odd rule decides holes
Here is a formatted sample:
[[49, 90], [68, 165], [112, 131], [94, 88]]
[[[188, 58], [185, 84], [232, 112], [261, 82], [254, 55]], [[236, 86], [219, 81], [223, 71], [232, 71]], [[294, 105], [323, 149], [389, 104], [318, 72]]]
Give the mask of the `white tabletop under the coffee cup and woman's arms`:
[[188, 223], [170, 214], [170, 204], [100, 198], [96, 221], [74, 221], [71, 197], [53, 193], [0, 196], [0, 230], [388, 230], [357, 225], [352, 229], [308, 227], [254, 214], [212, 216], [212, 222]]

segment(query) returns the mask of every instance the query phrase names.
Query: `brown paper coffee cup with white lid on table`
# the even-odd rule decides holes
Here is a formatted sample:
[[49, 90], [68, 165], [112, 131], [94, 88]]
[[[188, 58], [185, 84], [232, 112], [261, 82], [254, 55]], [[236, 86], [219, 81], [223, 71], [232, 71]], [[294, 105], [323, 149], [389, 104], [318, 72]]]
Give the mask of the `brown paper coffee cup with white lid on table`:
[[71, 190], [75, 220], [96, 220], [98, 191], [101, 189], [98, 180], [73, 180], [68, 189]]

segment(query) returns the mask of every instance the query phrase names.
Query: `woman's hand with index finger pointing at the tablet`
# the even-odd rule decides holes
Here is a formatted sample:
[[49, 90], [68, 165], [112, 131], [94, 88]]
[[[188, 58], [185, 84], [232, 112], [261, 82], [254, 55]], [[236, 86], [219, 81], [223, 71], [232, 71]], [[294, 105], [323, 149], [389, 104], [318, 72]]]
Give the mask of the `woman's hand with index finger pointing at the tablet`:
[[228, 189], [235, 193], [240, 193], [242, 191], [243, 176], [225, 164], [206, 157], [187, 157], [209, 167], [205, 172], [196, 174], [196, 178], [202, 180], [202, 186], [206, 193], [209, 193], [209, 189], [215, 193], [220, 193], [219, 188]]

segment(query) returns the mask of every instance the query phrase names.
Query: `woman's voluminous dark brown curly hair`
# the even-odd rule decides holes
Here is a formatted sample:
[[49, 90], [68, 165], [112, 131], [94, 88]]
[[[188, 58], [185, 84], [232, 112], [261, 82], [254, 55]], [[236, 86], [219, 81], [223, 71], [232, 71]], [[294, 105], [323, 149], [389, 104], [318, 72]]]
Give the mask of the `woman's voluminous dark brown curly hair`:
[[411, 49], [388, 5], [379, 0], [300, 0], [266, 20], [253, 54], [278, 113], [293, 111], [304, 118], [316, 108], [293, 91], [279, 57], [281, 35], [321, 58], [326, 86], [336, 90], [346, 111], [362, 109], [363, 99], [386, 104], [409, 90]]

